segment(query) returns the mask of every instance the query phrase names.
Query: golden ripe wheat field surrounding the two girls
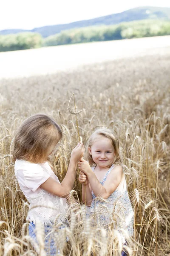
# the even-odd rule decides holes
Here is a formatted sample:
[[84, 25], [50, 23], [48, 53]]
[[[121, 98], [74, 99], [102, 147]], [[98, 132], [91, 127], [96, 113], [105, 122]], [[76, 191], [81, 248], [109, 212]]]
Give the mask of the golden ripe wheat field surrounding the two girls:
[[[63, 137], [51, 156], [61, 181], [77, 145], [75, 116], [68, 101], [75, 94], [79, 133], [84, 143], [97, 127], [111, 128], [125, 145], [124, 168], [135, 212], [131, 256], [170, 255], [170, 54], [146, 55], [91, 64], [74, 71], [0, 80], [0, 255], [34, 256], [28, 236], [28, 203], [12, 163], [12, 141], [21, 122], [34, 113], [53, 116]], [[74, 102], [71, 103], [74, 107]], [[54, 224], [60, 255], [118, 256], [117, 230], [90, 227], [77, 177], [69, 198], [69, 227]], [[37, 230], [39, 255], [45, 255]], [[66, 237], [69, 241], [66, 242]]]

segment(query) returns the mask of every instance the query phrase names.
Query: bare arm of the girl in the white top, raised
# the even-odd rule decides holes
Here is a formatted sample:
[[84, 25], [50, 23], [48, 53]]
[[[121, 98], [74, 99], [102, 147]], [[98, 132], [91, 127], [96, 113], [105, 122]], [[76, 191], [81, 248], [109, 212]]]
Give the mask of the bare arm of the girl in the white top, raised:
[[76, 175], [76, 168], [79, 159], [84, 154], [84, 145], [83, 143], [78, 144], [71, 153], [70, 164], [68, 166], [68, 171], [62, 180], [62, 183], [57, 182], [52, 177], [49, 177], [42, 185], [40, 186], [42, 189], [45, 189], [49, 193], [53, 195], [57, 195], [59, 197], [67, 197], [69, 192], [71, 191], [75, 175]]

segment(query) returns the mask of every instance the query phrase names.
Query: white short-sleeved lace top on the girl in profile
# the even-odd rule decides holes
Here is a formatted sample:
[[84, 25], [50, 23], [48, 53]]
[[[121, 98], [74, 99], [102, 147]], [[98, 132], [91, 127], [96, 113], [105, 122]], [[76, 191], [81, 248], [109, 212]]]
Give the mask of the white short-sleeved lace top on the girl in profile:
[[66, 199], [59, 198], [40, 188], [41, 184], [49, 177], [59, 182], [48, 162], [36, 164], [25, 160], [16, 160], [14, 171], [20, 189], [30, 203], [26, 220], [33, 221], [34, 224], [36, 221], [40, 221], [45, 226], [51, 225], [54, 221], [64, 222], [67, 209]]

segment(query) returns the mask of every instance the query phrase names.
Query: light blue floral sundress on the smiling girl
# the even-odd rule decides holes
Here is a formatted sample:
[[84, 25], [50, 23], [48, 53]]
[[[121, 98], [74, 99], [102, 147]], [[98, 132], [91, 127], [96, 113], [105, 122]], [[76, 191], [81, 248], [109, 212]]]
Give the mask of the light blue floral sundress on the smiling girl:
[[[104, 185], [109, 173], [114, 168], [112, 165], [103, 179], [100, 181]], [[94, 167], [91, 169], [94, 172]], [[122, 191], [115, 190], [107, 199], [97, 198], [92, 190], [91, 206], [87, 207], [87, 218], [92, 219], [92, 224], [108, 228], [112, 225], [113, 229], [127, 230], [128, 235], [133, 236], [134, 212], [127, 192], [126, 180], [124, 175], [124, 186]], [[125, 243], [125, 239], [122, 239]]]

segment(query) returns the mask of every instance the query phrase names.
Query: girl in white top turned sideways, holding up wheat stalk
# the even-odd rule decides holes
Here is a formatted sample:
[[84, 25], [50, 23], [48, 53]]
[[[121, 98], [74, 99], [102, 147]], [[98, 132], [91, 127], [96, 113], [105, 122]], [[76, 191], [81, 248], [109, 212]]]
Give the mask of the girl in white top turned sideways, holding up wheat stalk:
[[29, 235], [37, 242], [36, 223], [44, 225], [47, 255], [58, 253], [54, 240], [48, 239], [48, 233], [54, 222], [65, 222], [65, 198], [74, 185], [77, 164], [84, 154], [84, 145], [79, 143], [71, 152], [68, 171], [60, 183], [48, 163], [48, 156], [61, 137], [62, 131], [53, 119], [45, 114], [35, 114], [22, 123], [14, 138], [14, 171], [30, 203], [26, 218], [30, 222]]

